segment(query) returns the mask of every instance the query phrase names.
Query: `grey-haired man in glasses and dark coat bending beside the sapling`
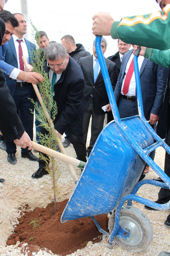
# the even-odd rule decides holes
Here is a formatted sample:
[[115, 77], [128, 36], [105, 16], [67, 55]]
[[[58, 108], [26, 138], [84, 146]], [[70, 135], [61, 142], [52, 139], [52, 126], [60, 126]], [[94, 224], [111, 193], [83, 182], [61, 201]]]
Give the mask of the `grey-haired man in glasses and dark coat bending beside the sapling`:
[[[79, 160], [86, 162], [86, 146], [83, 139], [84, 114], [84, 77], [78, 63], [72, 59], [62, 44], [52, 42], [45, 49], [46, 62], [44, 70], [51, 81], [52, 93], [57, 103], [57, 115], [54, 126], [57, 135], [68, 130]], [[41, 133], [45, 133], [41, 129]], [[32, 178], [41, 178], [48, 174], [45, 162], [39, 161], [39, 169]]]

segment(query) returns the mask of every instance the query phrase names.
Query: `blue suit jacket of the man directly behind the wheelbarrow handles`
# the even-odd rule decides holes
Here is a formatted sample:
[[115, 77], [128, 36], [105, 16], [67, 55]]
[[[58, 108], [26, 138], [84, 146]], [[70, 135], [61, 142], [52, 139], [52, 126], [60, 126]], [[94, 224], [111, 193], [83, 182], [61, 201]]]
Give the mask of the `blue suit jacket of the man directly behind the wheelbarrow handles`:
[[[125, 76], [126, 66], [132, 52], [133, 50], [125, 53], [122, 61], [120, 74], [118, 76], [118, 80], [114, 90], [114, 95], [117, 103], [120, 97], [120, 91]], [[166, 87], [168, 69], [149, 61], [149, 59], [147, 58], [144, 58], [139, 75], [144, 116], [147, 120], [149, 120], [150, 113], [158, 116], [160, 115], [163, 103], [164, 90]]]

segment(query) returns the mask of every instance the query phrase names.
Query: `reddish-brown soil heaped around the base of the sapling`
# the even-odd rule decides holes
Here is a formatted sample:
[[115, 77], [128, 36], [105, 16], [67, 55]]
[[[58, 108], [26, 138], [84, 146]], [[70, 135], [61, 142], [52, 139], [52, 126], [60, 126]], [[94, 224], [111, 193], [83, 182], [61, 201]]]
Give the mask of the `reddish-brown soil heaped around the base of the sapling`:
[[[19, 241], [29, 245], [37, 245], [40, 248], [45, 247], [53, 253], [65, 256], [77, 249], [82, 249], [89, 241], [100, 242], [102, 234], [90, 217], [65, 223], [60, 222], [67, 201], [57, 203], [56, 213], [54, 213], [52, 203], [48, 204], [46, 208], [36, 207], [31, 212], [23, 211], [18, 219], [19, 224], [16, 224], [14, 233], [9, 237], [7, 245], [14, 245]], [[95, 218], [100, 226], [108, 231], [107, 215], [96, 216]], [[31, 222], [33, 223], [30, 224]], [[35, 251], [34, 247], [33, 249]]]

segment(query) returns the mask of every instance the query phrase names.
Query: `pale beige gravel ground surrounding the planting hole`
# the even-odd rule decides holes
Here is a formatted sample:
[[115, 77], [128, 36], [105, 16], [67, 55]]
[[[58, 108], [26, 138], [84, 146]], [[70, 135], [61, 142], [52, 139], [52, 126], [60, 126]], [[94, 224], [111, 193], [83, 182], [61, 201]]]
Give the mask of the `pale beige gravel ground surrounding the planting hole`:
[[[63, 139], [62, 139], [63, 140]], [[66, 152], [69, 156], [76, 157], [74, 148], [72, 145], [66, 148]], [[34, 152], [33, 152], [34, 153]], [[38, 153], [34, 153], [38, 155]], [[162, 148], [158, 148], [156, 151], [155, 161], [163, 168], [165, 152]], [[29, 254], [26, 250], [26, 245], [19, 247], [6, 246], [7, 238], [13, 231], [14, 225], [16, 224], [16, 218], [19, 216], [19, 208], [23, 205], [29, 204], [32, 208], [39, 206], [45, 207], [50, 202], [51, 194], [44, 188], [46, 185], [44, 181], [50, 182], [50, 177], [43, 176], [41, 179], [35, 180], [31, 178], [31, 175], [38, 169], [37, 162], [31, 162], [27, 159], [22, 159], [20, 156], [20, 148], [17, 148], [16, 153], [17, 163], [11, 165], [7, 162], [7, 154], [5, 151], [0, 150], [0, 162], [1, 172], [0, 178], [4, 178], [6, 181], [0, 183], [0, 255], [54, 255], [52, 252], [46, 250], [35, 250], [33, 254]], [[59, 168], [62, 172], [59, 186], [60, 195], [58, 201], [68, 199], [72, 190], [75, 187], [74, 180], [72, 179], [68, 167], [64, 162], [58, 161]], [[78, 177], [81, 172], [79, 168], [74, 167]], [[148, 179], [157, 177], [155, 172], [150, 168], [150, 172], [146, 176]], [[159, 188], [151, 185], [144, 185], [138, 191], [138, 195], [152, 201], [157, 200]], [[170, 241], [169, 241], [169, 229], [163, 225], [166, 220], [169, 211], [149, 211], [145, 210], [143, 205], [139, 203], [133, 203], [133, 206], [139, 208], [144, 212], [145, 215], [150, 219], [154, 236], [153, 240], [144, 252], [131, 253], [123, 250], [118, 245], [114, 245], [113, 249], [108, 249], [107, 238], [103, 236], [103, 241], [91, 245], [89, 243], [85, 248], [77, 250], [72, 253], [72, 256], [105, 256], [105, 255], [153, 255], [157, 256], [161, 251], [170, 252]]]

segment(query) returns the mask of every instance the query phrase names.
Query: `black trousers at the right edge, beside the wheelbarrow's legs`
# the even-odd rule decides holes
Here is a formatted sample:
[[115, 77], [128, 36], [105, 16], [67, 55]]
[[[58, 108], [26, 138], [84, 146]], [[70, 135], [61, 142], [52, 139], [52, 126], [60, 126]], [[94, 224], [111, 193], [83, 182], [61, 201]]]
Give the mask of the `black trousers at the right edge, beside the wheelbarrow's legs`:
[[[167, 145], [170, 146], [170, 126], [167, 133]], [[165, 167], [164, 173], [170, 178], [170, 156], [166, 152], [165, 154]], [[161, 188], [158, 193], [158, 203], [165, 204], [170, 200], [170, 189]]]

